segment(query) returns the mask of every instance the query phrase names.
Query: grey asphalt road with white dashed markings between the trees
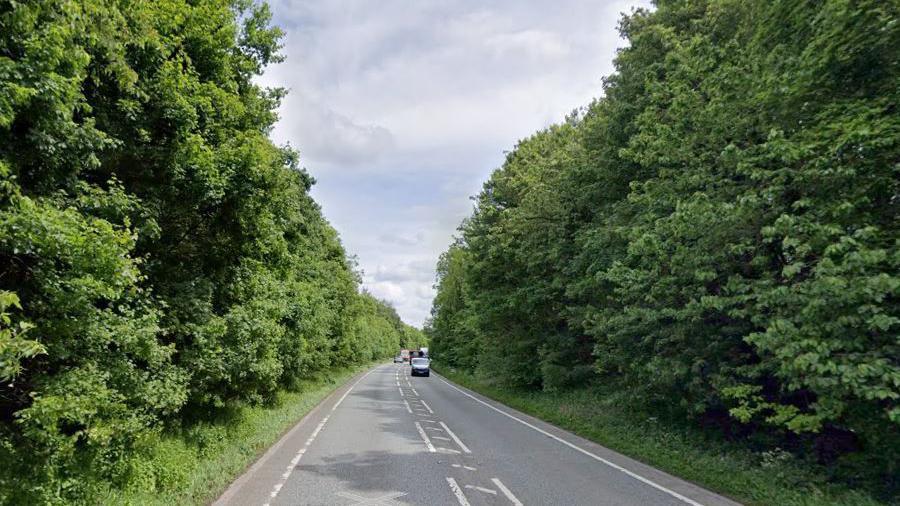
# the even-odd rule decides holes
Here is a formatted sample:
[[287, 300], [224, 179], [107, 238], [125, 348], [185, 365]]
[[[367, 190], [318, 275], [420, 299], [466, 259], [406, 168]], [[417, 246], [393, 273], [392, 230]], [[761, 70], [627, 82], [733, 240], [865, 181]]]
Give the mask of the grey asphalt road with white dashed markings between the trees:
[[735, 505], [408, 366], [337, 389], [216, 501], [225, 505]]

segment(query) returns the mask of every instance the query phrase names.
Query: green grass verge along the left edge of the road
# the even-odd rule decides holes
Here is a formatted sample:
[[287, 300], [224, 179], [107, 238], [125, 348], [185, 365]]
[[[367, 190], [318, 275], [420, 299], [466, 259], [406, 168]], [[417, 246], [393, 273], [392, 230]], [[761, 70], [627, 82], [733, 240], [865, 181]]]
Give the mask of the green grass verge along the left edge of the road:
[[236, 406], [220, 419], [164, 434], [147, 443], [147, 458], [132, 464], [128, 486], [107, 490], [96, 502], [209, 504], [322, 399], [368, 367], [307, 381], [269, 406]]

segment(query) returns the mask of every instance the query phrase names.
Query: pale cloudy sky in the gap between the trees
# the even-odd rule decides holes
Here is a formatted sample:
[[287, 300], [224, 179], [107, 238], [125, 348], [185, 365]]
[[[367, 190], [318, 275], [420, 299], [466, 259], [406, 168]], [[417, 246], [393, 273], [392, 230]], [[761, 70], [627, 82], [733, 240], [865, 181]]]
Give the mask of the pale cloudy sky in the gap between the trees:
[[434, 266], [504, 151], [601, 92], [623, 41], [603, 0], [269, 0], [286, 33], [274, 139], [364, 285], [421, 325]]

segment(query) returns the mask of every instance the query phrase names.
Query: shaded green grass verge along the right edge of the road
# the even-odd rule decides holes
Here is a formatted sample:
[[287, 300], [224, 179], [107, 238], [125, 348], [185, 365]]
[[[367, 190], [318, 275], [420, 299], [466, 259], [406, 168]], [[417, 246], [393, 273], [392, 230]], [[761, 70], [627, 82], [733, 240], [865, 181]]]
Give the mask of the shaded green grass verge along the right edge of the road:
[[745, 504], [889, 504], [867, 491], [828, 482], [820, 466], [787, 452], [754, 452], [700, 427], [640, 415], [622, 395], [510, 389], [436, 365], [436, 371], [482, 395]]

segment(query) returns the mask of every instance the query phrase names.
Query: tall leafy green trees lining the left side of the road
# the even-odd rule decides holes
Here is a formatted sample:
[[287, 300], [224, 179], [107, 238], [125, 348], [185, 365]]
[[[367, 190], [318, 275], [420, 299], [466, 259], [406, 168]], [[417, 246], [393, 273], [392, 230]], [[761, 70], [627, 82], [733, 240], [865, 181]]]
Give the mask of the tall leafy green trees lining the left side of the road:
[[424, 344], [268, 138], [269, 23], [0, 2], [0, 502], [83, 502], [160, 431]]

